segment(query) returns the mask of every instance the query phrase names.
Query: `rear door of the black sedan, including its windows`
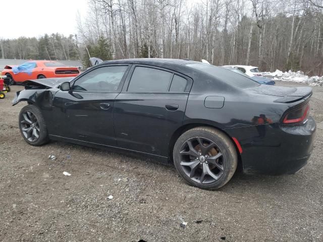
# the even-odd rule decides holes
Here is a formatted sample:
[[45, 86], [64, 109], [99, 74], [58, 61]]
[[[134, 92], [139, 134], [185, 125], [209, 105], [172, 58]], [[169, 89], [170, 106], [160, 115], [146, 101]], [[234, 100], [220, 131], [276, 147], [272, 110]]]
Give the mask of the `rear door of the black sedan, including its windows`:
[[167, 69], [134, 65], [115, 99], [119, 147], [168, 156], [172, 134], [182, 125], [192, 79]]

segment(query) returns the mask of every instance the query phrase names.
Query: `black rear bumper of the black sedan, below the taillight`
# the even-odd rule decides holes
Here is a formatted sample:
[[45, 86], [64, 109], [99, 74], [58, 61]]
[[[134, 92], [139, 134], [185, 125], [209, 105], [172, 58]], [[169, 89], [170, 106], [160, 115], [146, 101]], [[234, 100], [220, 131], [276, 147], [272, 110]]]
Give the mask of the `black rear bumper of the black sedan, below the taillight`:
[[232, 129], [232, 137], [240, 137], [241, 160], [245, 173], [293, 174], [307, 164], [316, 131], [309, 116], [299, 125], [270, 124]]

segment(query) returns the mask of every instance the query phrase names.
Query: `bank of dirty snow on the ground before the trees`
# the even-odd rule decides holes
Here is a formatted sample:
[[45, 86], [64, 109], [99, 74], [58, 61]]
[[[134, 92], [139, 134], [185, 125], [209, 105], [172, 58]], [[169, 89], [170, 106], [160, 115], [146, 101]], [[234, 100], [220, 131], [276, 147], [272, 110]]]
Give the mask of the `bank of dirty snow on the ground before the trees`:
[[264, 72], [262, 73], [262, 75], [272, 77], [274, 81], [297, 82], [297, 83], [306, 83], [310, 86], [323, 86], [323, 76], [309, 77], [304, 75], [302, 71], [282, 72], [280, 70], [276, 70], [275, 72]]

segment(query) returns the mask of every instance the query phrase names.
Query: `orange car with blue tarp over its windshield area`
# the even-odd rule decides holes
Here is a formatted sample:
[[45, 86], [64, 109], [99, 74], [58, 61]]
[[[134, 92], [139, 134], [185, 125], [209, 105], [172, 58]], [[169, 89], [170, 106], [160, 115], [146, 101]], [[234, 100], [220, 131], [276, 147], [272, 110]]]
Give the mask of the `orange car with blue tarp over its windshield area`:
[[41, 78], [75, 77], [79, 73], [76, 67], [67, 67], [62, 63], [51, 61], [30, 61], [20, 66], [5, 66], [1, 72], [14, 83]]

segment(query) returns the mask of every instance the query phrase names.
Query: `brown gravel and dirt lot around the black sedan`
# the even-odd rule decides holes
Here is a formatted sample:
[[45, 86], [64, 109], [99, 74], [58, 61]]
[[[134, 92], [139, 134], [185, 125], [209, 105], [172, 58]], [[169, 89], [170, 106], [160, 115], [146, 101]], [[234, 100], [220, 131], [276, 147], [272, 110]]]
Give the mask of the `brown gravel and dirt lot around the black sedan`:
[[27, 145], [17, 122], [26, 104], [11, 106], [21, 88], [12, 89], [0, 100], [1, 241], [323, 241], [322, 87], [311, 99], [317, 133], [308, 165], [295, 175], [236, 173], [219, 191], [129, 154]]

